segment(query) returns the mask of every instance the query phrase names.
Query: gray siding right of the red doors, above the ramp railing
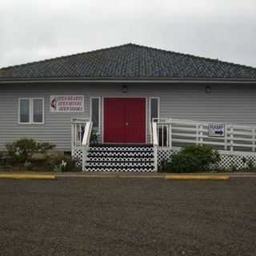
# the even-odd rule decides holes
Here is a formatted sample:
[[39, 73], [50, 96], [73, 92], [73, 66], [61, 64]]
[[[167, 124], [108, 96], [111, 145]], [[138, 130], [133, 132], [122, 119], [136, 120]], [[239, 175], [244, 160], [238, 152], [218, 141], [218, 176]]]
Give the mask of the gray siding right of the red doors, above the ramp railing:
[[210, 94], [203, 86], [198, 89], [186, 86], [160, 94], [161, 116], [256, 125], [254, 87], [212, 86]]

